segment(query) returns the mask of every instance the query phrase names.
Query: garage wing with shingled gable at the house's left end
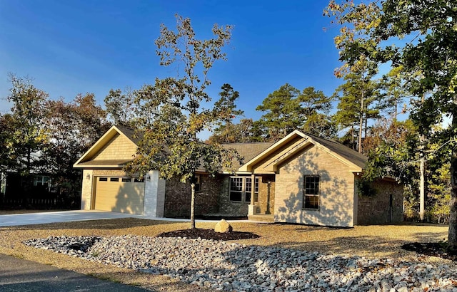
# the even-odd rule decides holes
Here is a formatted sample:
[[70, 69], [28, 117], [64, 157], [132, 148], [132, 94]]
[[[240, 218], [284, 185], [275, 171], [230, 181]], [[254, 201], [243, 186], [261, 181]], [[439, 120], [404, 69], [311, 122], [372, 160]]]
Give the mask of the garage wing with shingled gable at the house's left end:
[[124, 172], [136, 155], [136, 139], [133, 130], [113, 126], [74, 164], [83, 170], [81, 209], [164, 216], [166, 182], [159, 172]]

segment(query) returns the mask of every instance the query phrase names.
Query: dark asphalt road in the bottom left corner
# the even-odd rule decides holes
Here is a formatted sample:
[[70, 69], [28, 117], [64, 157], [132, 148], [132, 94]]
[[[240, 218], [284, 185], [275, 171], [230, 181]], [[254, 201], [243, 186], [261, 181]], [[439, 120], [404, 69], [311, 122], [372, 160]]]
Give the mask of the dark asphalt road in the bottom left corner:
[[149, 291], [0, 254], [0, 291]]

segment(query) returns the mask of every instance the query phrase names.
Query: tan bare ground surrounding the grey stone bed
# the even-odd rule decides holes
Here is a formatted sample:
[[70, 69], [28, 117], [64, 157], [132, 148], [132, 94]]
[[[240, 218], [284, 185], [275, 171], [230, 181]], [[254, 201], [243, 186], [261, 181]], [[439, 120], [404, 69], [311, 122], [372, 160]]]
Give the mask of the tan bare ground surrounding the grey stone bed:
[[[213, 229], [214, 225], [215, 223], [197, 222], [196, 227]], [[448, 231], [447, 226], [431, 224], [356, 226], [353, 229], [242, 222], [235, 222], [232, 226], [233, 231], [251, 232], [259, 236], [254, 239], [233, 241], [239, 244], [281, 246], [290, 249], [320, 251], [326, 254], [358, 255], [368, 258], [388, 257], [404, 260], [412, 260], [416, 257], [416, 253], [401, 249], [403, 244], [446, 240]], [[125, 268], [105, 266], [63, 254], [56, 254], [52, 251], [34, 249], [22, 244], [22, 241], [27, 239], [48, 236], [109, 236], [123, 234], [156, 236], [163, 232], [187, 228], [189, 228], [189, 223], [146, 219], [111, 219], [0, 227], [0, 253], [66, 268], [79, 273], [86, 273], [98, 278], [141, 286], [152, 291], [209, 291], [204, 288], [186, 285], [165, 276], [152, 276]], [[452, 261], [429, 256], [421, 257], [421, 261], [440, 262], [455, 266]]]

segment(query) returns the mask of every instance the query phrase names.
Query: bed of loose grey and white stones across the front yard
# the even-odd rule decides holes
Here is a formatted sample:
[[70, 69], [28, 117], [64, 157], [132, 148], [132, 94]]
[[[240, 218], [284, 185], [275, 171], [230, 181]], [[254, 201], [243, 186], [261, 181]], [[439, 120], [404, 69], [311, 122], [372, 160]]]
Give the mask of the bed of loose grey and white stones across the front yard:
[[216, 291], [457, 291], [447, 265], [334, 256], [208, 239], [50, 236], [24, 244], [164, 274]]

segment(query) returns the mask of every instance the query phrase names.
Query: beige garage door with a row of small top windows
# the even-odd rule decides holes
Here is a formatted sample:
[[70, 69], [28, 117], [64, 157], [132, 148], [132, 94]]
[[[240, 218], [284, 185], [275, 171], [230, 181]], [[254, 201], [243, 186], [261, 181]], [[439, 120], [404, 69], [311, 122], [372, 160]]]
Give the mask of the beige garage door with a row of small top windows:
[[144, 181], [130, 177], [96, 177], [96, 210], [143, 214]]

